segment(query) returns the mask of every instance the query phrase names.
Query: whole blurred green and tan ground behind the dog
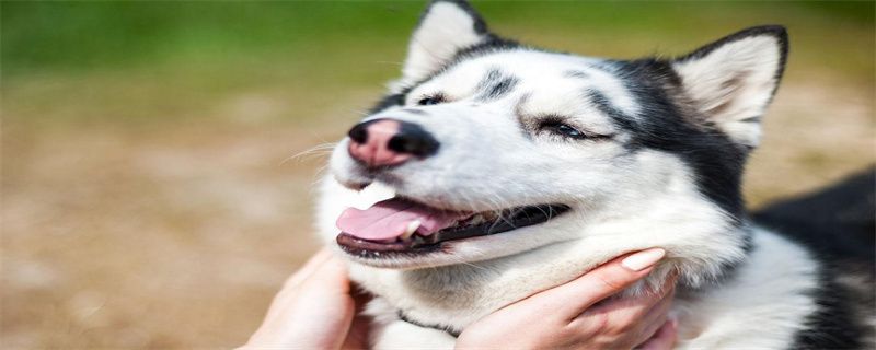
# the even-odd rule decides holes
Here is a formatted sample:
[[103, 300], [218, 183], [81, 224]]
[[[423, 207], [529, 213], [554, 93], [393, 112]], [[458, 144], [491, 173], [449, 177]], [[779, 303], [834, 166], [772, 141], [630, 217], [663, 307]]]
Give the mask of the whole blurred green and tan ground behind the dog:
[[[752, 207], [876, 160], [874, 2], [475, 2], [591, 56], [780, 23], [791, 59]], [[319, 242], [325, 153], [400, 69], [424, 3], [2, 2], [4, 349], [229, 348]]]

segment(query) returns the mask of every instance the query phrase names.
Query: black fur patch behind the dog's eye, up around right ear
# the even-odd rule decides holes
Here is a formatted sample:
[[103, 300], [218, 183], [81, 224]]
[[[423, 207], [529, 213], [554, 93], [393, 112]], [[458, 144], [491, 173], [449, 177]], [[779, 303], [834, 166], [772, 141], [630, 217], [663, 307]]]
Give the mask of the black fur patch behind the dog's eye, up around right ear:
[[689, 106], [681, 79], [671, 65], [702, 58], [728, 43], [759, 35], [771, 35], [779, 40], [781, 61], [775, 72], [779, 81], [787, 60], [787, 32], [783, 26], [766, 25], [737, 32], [672, 61], [647, 58], [603, 65], [601, 69], [614, 70], [635, 95], [644, 110], [635, 118], [623, 118], [604, 96], [590, 96], [619, 127], [634, 135], [634, 147], [662, 150], [684, 160], [695, 172], [700, 191], [739, 222], [745, 218], [741, 175], [750, 149], [734, 142], [708, 121], [708, 116], [699, 115]]

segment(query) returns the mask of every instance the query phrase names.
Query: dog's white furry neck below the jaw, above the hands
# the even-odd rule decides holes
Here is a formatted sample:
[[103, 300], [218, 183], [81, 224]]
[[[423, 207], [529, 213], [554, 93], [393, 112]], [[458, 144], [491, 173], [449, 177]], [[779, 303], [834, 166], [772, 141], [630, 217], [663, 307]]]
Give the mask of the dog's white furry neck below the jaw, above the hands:
[[[458, 330], [508, 303], [572, 280], [618, 255], [653, 246], [666, 248], [667, 259], [645, 282], [627, 293], [656, 288], [672, 269], [680, 272], [679, 283], [684, 290], [716, 288], [731, 276], [736, 265], [745, 261], [750, 247], [751, 228], [746, 222], [719, 231], [692, 232], [692, 225], [682, 221], [679, 225], [655, 228], [650, 230], [653, 235], [648, 235], [648, 231], [631, 233], [636, 237], [624, 241], [635, 243], [626, 246], [612, 245], [612, 241], [619, 240], [607, 233], [609, 229], [591, 228], [592, 233], [579, 240], [485, 261], [414, 270], [366, 268], [380, 275], [379, 280], [382, 280], [374, 285], [366, 283], [369, 284], [366, 287], [385, 298], [411, 322]], [[692, 249], [685, 245], [701, 240], [655, 240], [666, 237], [667, 233], [656, 232], [664, 230], [691, 236], [708, 235], [715, 244]], [[680, 255], [684, 252], [700, 255]]]

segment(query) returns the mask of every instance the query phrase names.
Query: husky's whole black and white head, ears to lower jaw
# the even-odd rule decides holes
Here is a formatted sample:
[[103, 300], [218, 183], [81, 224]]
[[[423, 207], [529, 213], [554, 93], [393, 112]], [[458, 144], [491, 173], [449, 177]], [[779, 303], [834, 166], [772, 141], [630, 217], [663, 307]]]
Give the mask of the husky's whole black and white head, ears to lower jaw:
[[612, 223], [672, 219], [661, 212], [739, 224], [742, 164], [785, 52], [768, 26], [673, 60], [585, 58], [433, 2], [403, 78], [331, 160], [345, 187], [395, 198], [344, 211], [337, 243], [361, 264], [416, 268], [622, 235], [643, 228]]

